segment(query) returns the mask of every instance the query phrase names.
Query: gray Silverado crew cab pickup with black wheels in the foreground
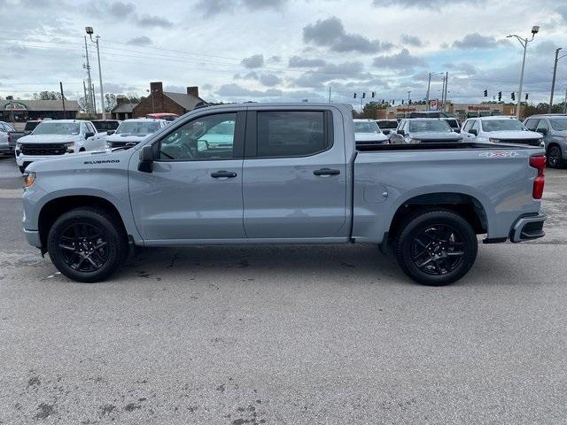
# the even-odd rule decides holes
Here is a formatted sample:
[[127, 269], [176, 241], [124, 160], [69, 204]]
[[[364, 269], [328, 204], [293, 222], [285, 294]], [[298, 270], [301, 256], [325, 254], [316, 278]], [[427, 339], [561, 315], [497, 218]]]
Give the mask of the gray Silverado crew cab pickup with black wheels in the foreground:
[[340, 104], [227, 104], [129, 149], [27, 166], [23, 227], [58, 270], [109, 277], [128, 245], [375, 243], [427, 285], [485, 243], [544, 235], [540, 147], [354, 143]]

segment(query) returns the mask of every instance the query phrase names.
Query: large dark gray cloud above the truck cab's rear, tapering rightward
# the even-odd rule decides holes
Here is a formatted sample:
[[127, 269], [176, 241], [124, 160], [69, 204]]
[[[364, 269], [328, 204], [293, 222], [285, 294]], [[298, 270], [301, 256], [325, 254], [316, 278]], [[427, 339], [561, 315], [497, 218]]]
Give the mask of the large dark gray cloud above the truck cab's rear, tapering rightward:
[[360, 53], [377, 53], [393, 47], [391, 42], [369, 40], [359, 34], [347, 34], [343, 22], [336, 16], [319, 19], [315, 24], [303, 27], [303, 41], [317, 46], [329, 47], [337, 52], [358, 51]]

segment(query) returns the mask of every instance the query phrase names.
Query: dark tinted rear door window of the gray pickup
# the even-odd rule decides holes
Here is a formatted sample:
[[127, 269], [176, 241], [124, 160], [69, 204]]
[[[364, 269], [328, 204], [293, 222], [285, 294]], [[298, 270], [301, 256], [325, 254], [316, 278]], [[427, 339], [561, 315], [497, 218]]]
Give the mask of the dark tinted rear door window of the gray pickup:
[[259, 158], [309, 156], [330, 147], [325, 112], [258, 112], [256, 120]]

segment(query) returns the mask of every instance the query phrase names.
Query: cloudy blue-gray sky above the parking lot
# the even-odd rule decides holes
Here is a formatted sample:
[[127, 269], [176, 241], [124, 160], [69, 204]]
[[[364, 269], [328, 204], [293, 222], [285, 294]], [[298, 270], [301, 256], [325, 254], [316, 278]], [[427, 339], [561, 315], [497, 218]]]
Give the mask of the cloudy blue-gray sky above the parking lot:
[[[449, 5], [447, 5], [449, 4]], [[537, 5], [536, 5], [537, 4]], [[105, 92], [199, 87], [209, 101], [423, 99], [430, 72], [449, 73], [449, 98], [477, 102], [517, 90], [548, 101], [555, 48], [567, 53], [566, 0], [0, 0], [0, 97], [82, 93], [84, 27], [100, 35]], [[98, 90], [94, 44], [90, 53]], [[567, 86], [559, 63], [556, 97]], [[435, 77], [431, 97], [440, 97]]]

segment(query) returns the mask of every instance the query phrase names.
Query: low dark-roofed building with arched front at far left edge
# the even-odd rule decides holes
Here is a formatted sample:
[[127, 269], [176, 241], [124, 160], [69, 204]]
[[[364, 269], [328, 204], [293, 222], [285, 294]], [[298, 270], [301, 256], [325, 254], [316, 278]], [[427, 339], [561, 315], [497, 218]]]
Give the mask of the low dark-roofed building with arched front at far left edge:
[[0, 100], [0, 121], [24, 123], [27, 120], [74, 119], [79, 112], [76, 100], [65, 101], [65, 111], [60, 100]]

